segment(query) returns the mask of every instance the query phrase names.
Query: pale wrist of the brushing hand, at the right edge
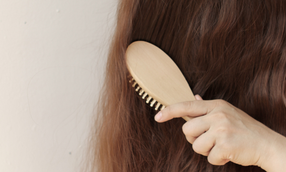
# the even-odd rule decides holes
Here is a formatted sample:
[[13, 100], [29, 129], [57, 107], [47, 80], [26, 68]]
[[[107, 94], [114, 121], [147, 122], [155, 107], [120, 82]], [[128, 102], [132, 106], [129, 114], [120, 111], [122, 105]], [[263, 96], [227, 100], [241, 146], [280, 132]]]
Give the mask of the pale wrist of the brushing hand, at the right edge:
[[273, 139], [269, 138], [259, 166], [267, 172], [285, 172], [286, 137], [272, 132]]

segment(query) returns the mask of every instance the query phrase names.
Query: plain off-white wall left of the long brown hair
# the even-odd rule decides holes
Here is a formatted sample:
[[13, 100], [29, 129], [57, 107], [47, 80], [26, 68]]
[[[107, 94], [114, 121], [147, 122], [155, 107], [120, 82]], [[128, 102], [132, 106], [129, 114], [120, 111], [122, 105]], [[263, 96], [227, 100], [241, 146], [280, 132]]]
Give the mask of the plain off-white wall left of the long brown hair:
[[1, 172], [80, 170], [117, 3], [0, 0]]

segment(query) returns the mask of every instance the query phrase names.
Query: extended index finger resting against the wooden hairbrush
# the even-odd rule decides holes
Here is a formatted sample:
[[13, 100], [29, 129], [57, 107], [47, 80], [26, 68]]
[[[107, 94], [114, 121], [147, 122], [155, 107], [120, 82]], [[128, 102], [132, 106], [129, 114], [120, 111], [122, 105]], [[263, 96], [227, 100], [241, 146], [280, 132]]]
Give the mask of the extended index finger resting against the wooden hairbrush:
[[[201, 98], [201, 97], [200, 97]], [[198, 99], [200, 99], [198, 97]], [[183, 116], [197, 117], [210, 113], [216, 106], [215, 100], [185, 101], [170, 105], [155, 116], [157, 122], [165, 122]]]

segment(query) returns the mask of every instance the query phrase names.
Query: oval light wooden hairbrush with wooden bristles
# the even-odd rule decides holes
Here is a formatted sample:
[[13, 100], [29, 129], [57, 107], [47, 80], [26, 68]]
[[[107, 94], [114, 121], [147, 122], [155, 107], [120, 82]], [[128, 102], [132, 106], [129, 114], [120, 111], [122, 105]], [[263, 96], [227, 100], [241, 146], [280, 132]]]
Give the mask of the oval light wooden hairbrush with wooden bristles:
[[[146, 103], [161, 110], [168, 105], [196, 100], [184, 75], [175, 62], [160, 48], [144, 41], [130, 44], [126, 50], [132, 87], [139, 91]], [[184, 120], [193, 117], [184, 116]]]

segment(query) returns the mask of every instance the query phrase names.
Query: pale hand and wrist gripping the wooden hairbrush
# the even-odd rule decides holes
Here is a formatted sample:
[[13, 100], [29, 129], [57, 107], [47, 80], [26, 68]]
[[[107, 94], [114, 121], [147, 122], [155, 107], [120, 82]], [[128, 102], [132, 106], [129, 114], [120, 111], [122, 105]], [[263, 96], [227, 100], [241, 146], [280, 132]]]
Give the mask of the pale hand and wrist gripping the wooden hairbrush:
[[202, 100], [170, 105], [156, 114], [157, 122], [196, 117], [182, 130], [196, 153], [213, 165], [231, 161], [257, 165], [267, 172], [286, 171], [286, 138], [224, 100]]

